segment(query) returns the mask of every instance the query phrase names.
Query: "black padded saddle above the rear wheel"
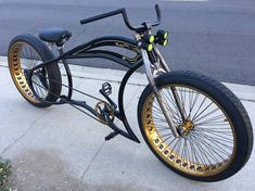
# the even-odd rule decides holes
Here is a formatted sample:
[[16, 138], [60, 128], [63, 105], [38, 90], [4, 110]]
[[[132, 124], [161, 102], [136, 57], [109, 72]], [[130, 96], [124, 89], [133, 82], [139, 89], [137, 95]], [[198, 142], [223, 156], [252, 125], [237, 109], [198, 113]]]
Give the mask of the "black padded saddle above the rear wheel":
[[39, 38], [47, 42], [54, 42], [56, 46], [62, 46], [66, 42], [72, 33], [67, 29], [54, 27], [54, 28], [46, 28], [39, 33]]

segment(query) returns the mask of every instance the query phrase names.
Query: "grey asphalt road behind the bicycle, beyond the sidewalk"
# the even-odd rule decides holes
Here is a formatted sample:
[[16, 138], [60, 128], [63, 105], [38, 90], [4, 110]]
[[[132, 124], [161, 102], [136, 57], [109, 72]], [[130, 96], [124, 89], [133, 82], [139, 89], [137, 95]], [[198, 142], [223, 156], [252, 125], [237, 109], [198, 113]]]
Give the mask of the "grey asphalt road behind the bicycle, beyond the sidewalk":
[[[171, 33], [169, 46], [162, 49], [171, 69], [196, 71], [221, 81], [255, 85], [254, 0], [0, 0], [0, 55], [7, 54], [15, 35], [37, 35], [51, 26], [73, 33], [66, 49], [103, 35], [132, 37], [120, 16], [86, 26], [80, 26], [79, 20], [124, 7], [132, 23], [138, 24], [155, 20], [156, 2], [163, 12], [161, 28]], [[82, 64], [122, 68], [103, 60]]]

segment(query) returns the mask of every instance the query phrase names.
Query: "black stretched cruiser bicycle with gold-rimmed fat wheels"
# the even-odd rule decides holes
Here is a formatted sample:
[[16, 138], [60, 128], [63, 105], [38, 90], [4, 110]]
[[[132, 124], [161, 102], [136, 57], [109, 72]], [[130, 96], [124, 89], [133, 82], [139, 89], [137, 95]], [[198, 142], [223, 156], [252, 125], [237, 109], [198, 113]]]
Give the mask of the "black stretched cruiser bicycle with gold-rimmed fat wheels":
[[[167, 46], [168, 31], [152, 28], [161, 24], [161, 10], [155, 5], [156, 22], [143, 22], [132, 26], [125, 9], [80, 21], [88, 24], [120, 14], [126, 26], [135, 31], [135, 39], [105, 36], [82, 43], [66, 52], [64, 43], [71, 38], [68, 30], [44, 29], [39, 40], [31, 35], [16, 36], [9, 46], [8, 60], [12, 79], [20, 93], [33, 105], [71, 104], [90, 117], [105, 124], [117, 135], [140, 142], [126, 118], [123, 97], [129, 77], [144, 65], [149, 85], [138, 103], [138, 123], [148, 147], [171, 170], [193, 180], [219, 181], [239, 171], [247, 162], [253, 148], [253, 130], [248, 115], [239, 99], [222, 84], [202, 74], [189, 71], [171, 72], [162, 56], [158, 46]], [[54, 58], [55, 46], [60, 55]], [[104, 48], [128, 50], [133, 56]], [[101, 49], [101, 50], [100, 50]], [[118, 90], [118, 102], [110, 94], [112, 86], [102, 85], [104, 100], [73, 87], [67, 63], [71, 59], [101, 58], [128, 68]], [[60, 62], [68, 85], [62, 82]], [[63, 94], [62, 87], [68, 89]], [[94, 106], [73, 100], [73, 92], [95, 99]], [[123, 122], [125, 130], [115, 123]]]

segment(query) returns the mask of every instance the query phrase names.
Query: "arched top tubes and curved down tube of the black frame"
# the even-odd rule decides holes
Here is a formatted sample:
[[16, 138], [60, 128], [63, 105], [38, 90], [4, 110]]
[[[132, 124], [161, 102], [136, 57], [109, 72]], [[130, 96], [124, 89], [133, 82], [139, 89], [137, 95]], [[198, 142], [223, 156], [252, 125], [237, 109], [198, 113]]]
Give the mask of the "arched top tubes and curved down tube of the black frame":
[[[106, 48], [106, 47], [116, 47], [116, 48], [127, 49], [133, 52], [135, 55], [129, 58], [127, 55], [123, 55], [120, 53], [113, 52], [111, 50], [109, 51], [105, 49], [100, 49], [100, 48]], [[64, 59], [102, 58], [102, 59], [114, 61], [129, 68], [129, 71], [123, 77], [123, 80], [120, 82], [120, 87], [118, 90], [118, 110], [119, 110], [119, 115], [122, 117], [122, 122], [128, 133], [127, 138], [129, 138], [130, 140], [135, 142], [140, 142], [127, 122], [126, 114], [124, 111], [124, 101], [123, 101], [125, 87], [127, 85], [129, 77], [133, 74], [135, 71], [137, 71], [143, 64], [140, 50], [137, 47], [137, 42], [132, 39], [128, 39], [125, 37], [106, 36], [106, 37], [97, 38], [88, 43], [84, 43], [77, 48], [74, 48], [73, 50], [66, 52], [63, 56]]]

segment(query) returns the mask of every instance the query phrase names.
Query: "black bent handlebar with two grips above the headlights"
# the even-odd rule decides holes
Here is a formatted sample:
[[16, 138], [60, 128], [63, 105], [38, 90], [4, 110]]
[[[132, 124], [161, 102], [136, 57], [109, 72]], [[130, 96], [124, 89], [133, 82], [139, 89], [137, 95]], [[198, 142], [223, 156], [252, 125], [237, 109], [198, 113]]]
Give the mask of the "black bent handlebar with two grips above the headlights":
[[[157, 26], [157, 25], [161, 24], [161, 9], [160, 9], [158, 4], [155, 4], [155, 10], [156, 10], [157, 21], [152, 23], [151, 26]], [[140, 27], [135, 27], [130, 24], [130, 22], [127, 17], [127, 13], [126, 13], [125, 9], [119, 9], [119, 10], [116, 10], [116, 11], [112, 11], [112, 12], [109, 12], [109, 13], [104, 13], [104, 14], [100, 14], [100, 15], [97, 15], [97, 16], [92, 16], [92, 17], [81, 20], [80, 24], [84, 25], [84, 24], [87, 24], [87, 23], [90, 23], [90, 22], [94, 22], [94, 21], [102, 20], [102, 18], [110, 17], [110, 16], [114, 16], [116, 14], [122, 14], [123, 15], [124, 22], [125, 22], [126, 26], [129, 29], [137, 30], [138, 28], [140, 28]]]

